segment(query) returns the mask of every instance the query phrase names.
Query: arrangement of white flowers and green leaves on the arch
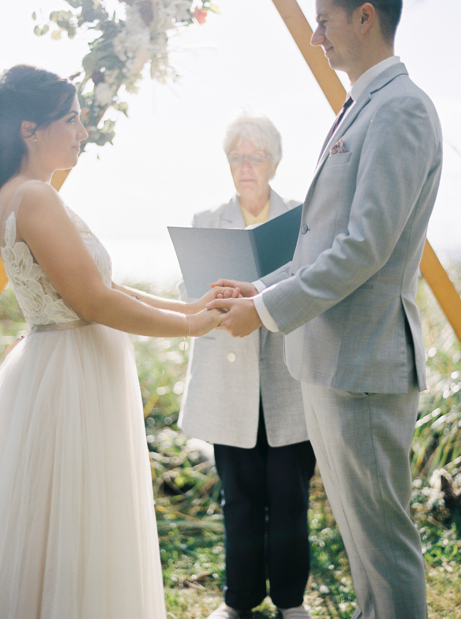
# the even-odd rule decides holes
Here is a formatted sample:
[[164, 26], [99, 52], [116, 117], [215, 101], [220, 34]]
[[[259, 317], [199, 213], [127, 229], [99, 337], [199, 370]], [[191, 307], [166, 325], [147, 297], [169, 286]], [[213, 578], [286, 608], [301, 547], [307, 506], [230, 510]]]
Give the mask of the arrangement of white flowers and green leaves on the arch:
[[[150, 74], [162, 84], [179, 77], [169, 64], [168, 39], [181, 28], [203, 24], [208, 11], [219, 13], [211, 0], [119, 0], [125, 7], [124, 19], [106, 11], [103, 0], [66, 0], [74, 11], [53, 11], [49, 22], [36, 25], [38, 37], [51, 29], [51, 38], [59, 40], [63, 32], [74, 38], [80, 31], [101, 34], [83, 58], [82, 71], [71, 79], [77, 86], [87, 142], [112, 144], [115, 135], [112, 120], [100, 121], [109, 107], [127, 115], [128, 104], [118, 95], [121, 86], [137, 92], [142, 70], [150, 63]], [[32, 14], [36, 20], [36, 14]]]

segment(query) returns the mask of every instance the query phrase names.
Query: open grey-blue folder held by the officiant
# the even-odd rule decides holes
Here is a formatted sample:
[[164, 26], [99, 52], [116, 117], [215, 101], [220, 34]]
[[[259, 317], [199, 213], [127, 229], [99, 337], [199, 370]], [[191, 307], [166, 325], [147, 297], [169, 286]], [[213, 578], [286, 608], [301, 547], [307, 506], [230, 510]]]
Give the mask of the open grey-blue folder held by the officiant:
[[190, 298], [219, 277], [254, 282], [293, 258], [302, 204], [255, 228], [174, 228], [171, 240]]

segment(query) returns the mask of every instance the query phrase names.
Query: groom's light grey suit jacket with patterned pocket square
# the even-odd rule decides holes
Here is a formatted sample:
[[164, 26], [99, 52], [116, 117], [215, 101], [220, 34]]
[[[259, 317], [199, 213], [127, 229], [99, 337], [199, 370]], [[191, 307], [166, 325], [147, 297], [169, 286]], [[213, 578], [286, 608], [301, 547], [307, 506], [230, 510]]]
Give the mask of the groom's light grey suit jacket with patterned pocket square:
[[[330, 155], [341, 137], [347, 152]], [[407, 319], [425, 389], [415, 296], [441, 167], [434, 105], [395, 64], [324, 143], [293, 261], [262, 278], [292, 376], [342, 391], [405, 393]]]

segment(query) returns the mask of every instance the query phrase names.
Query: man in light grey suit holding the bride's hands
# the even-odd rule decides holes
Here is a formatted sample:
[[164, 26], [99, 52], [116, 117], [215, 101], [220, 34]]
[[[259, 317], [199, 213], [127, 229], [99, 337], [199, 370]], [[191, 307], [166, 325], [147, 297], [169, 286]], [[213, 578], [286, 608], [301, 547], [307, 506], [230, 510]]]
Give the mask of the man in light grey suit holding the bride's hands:
[[[316, 0], [321, 45], [351, 87], [304, 202], [293, 261], [217, 299], [242, 337], [285, 334], [309, 438], [349, 555], [353, 619], [425, 619], [408, 451], [426, 388], [415, 295], [442, 165], [431, 100], [394, 55], [402, 0]], [[215, 284], [216, 285], [216, 284]]]

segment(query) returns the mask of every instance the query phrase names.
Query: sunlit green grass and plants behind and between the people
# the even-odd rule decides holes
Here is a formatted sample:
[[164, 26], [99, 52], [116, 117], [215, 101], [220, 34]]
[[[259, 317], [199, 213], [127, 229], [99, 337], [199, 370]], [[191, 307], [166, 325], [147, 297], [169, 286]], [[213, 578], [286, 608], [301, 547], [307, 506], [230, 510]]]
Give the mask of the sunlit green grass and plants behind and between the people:
[[[450, 267], [449, 275], [460, 289], [460, 266]], [[425, 551], [429, 619], [461, 619], [461, 345], [423, 280], [417, 302], [428, 351], [428, 391], [421, 394], [410, 452], [411, 513]], [[0, 348], [26, 329], [7, 288], [0, 300]], [[183, 356], [181, 339], [132, 336], [132, 341], [168, 617], [202, 619], [222, 601], [224, 528], [216, 471], [176, 425], [188, 348]], [[349, 618], [355, 608], [349, 563], [318, 474], [311, 480], [308, 519], [311, 575], [305, 607], [312, 617]], [[253, 612], [258, 619], [276, 615], [269, 598]]]

